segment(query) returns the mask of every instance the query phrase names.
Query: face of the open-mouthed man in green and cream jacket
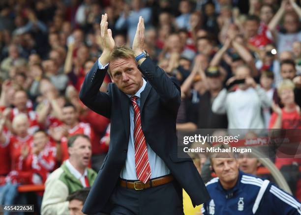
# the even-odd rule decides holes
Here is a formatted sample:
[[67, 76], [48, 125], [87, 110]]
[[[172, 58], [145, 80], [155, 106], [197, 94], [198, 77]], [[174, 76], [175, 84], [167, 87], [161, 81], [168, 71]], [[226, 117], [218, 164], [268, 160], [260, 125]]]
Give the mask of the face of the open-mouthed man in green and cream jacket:
[[77, 166], [86, 168], [89, 165], [91, 159], [91, 143], [82, 136], [76, 138], [72, 147], [68, 148], [70, 159], [74, 159], [77, 162]]

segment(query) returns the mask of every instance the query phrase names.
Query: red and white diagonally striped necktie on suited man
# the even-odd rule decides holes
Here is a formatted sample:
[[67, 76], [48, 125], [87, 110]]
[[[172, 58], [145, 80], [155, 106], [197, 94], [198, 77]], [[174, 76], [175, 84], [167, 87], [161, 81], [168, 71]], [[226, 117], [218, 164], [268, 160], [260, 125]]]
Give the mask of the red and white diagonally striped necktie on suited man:
[[130, 98], [134, 108], [134, 145], [135, 164], [137, 178], [146, 184], [151, 177], [151, 166], [148, 157], [148, 149], [145, 136], [141, 128], [140, 108], [137, 104], [137, 96]]

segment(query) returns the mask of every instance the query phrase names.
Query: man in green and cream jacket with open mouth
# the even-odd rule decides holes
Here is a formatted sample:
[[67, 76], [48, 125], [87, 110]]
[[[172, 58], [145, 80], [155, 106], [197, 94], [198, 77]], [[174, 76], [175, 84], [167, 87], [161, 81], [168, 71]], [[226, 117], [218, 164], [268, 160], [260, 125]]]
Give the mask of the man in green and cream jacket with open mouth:
[[69, 159], [49, 175], [45, 183], [42, 215], [69, 215], [67, 197], [81, 188], [90, 187], [96, 172], [88, 165], [91, 158], [90, 138], [75, 134], [68, 139]]

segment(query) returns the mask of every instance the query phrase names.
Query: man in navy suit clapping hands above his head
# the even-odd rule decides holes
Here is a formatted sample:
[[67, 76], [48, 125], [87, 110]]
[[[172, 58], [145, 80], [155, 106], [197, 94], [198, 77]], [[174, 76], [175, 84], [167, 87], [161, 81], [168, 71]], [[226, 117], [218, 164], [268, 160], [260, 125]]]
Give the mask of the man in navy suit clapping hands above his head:
[[[132, 49], [115, 47], [107, 14], [100, 29], [103, 53], [87, 74], [80, 99], [111, 119], [110, 147], [83, 212], [182, 215], [182, 188], [194, 206], [210, 196], [192, 160], [177, 152], [180, 87], [143, 50], [142, 17]], [[103, 93], [107, 71], [113, 83]]]

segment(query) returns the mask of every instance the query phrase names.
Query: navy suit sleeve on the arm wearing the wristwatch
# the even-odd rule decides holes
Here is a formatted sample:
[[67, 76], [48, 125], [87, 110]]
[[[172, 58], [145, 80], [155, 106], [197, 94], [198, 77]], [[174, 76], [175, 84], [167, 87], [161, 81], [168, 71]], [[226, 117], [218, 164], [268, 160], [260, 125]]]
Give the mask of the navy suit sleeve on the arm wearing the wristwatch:
[[181, 89], [177, 81], [170, 79], [149, 57], [138, 68], [159, 94], [163, 104], [172, 111], [178, 112], [181, 104]]

